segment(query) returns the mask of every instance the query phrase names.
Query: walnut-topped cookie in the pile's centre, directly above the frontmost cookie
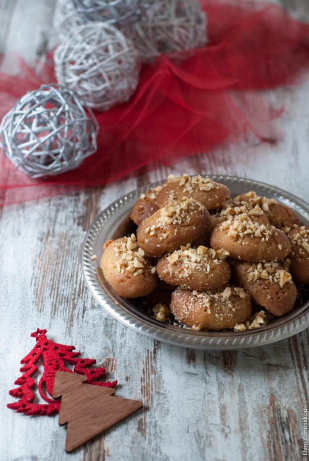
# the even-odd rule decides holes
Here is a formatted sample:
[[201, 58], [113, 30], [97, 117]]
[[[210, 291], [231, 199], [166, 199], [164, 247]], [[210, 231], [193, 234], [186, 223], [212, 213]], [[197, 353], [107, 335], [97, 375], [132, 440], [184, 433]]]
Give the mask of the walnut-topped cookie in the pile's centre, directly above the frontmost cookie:
[[217, 290], [226, 285], [231, 276], [228, 252], [215, 251], [199, 246], [191, 248], [188, 243], [161, 258], [156, 265], [160, 279], [174, 286], [204, 291]]

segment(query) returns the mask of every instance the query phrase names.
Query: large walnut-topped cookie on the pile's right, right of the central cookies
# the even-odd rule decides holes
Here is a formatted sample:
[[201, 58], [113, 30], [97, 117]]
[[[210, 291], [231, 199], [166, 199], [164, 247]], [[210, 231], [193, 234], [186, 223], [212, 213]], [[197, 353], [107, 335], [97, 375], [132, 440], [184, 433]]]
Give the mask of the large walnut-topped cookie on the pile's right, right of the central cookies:
[[227, 250], [231, 258], [247, 262], [283, 261], [291, 250], [284, 232], [252, 221], [245, 213], [216, 226], [211, 232], [210, 243], [216, 250]]

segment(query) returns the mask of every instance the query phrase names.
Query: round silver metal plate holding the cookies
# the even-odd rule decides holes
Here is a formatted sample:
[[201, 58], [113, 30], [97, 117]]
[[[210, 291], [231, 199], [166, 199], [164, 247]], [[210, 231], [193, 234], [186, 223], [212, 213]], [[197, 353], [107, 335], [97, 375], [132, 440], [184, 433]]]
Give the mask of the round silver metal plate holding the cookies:
[[[297, 212], [301, 221], [309, 225], [309, 205], [288, 192], [268, 184], [234, 176], [209, 176], [225, 184], [232, 197], [256, 191], [258, 195], [275, 198]], [[110, 238], [119, 238], [135, 230], [129, 216], [140, 195], [161, 182], [140, 187], [116, 200], [106, 208], [90, 226], [81, 251], [81, 262], [86, 284], [97, 302], [115, 319], [127, 327], [158, 341], [194, 349], [240, 349], [262, 346], [289, 338], [309, 327], [309, 299], [290, 314], [271, 324], [245, 332], [194, 332], [161, 323], [138, 309], [129, 300], [121, 298], [106, 282], [100, 269], [103, 244]], [[91, 256], [97, 255], [96, 260]]]

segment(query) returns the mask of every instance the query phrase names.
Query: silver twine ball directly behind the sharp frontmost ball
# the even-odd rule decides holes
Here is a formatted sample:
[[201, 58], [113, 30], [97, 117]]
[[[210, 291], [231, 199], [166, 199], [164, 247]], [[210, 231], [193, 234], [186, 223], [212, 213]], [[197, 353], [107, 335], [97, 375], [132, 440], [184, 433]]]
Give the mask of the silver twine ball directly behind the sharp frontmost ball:
[[60, 85], [72, 88], [97, 111], [128, 101], [140, 74], [140, 55], [131, 40], [105, 22], [89, 22], [67, 35], [54, 53]]

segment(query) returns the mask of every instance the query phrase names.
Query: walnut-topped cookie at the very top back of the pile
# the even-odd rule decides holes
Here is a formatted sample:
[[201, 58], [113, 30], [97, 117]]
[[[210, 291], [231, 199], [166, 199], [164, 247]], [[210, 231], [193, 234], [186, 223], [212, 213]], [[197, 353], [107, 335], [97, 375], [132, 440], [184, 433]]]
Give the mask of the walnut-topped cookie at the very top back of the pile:
[[207, 210], [214, 210], [231, 197], [231, 192], [224, 184], [216, 183], [210, 178], [190, 177], [186, 174], [169, 175], [157, 194], [156, 203], [158, 207], [162, 207], [169, 198], [177, 200], [182, 197], [191, 197], [202, 203]]

